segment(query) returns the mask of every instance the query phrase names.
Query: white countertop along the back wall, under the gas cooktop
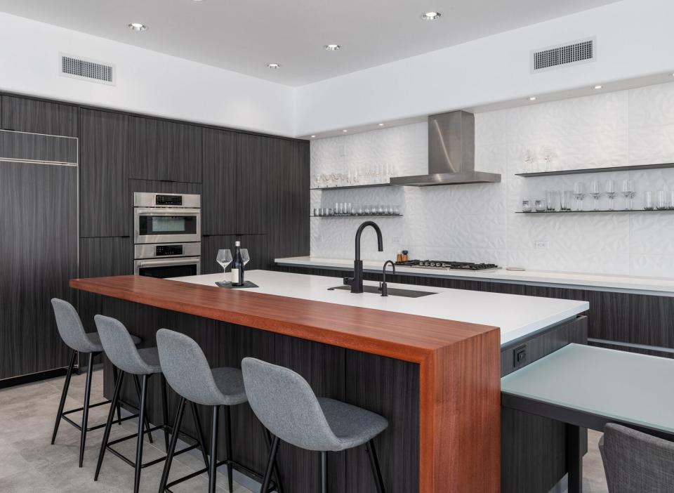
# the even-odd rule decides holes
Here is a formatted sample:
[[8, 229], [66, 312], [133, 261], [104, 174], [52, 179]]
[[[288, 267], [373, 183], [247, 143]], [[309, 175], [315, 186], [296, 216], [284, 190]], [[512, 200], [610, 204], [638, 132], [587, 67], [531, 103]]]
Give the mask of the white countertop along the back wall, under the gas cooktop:
[[[345, 258], [288, 257], [276, 258], [279, 265], [296, 267], [353, 269], [353, 261]], [[363, 269], [381, 272], [382, 261], [363, 261]], [[389, 267], [390, 269], [390, 267]], [[505, 270], [466, 271], [450, 269], [428, 269], [396, 267], [399, 274], [425, 275], [430, 277], [453, 277], [476, 281], [518, 282], [524, 284], [560, 285], [564, 287], [587, 288], [609, 291], [634, 292], [674, 296], [674, 279], [659, 277], [635, 277], [628, 275], [586, 274], [583, 272], [557, 272], [553, 270]]]

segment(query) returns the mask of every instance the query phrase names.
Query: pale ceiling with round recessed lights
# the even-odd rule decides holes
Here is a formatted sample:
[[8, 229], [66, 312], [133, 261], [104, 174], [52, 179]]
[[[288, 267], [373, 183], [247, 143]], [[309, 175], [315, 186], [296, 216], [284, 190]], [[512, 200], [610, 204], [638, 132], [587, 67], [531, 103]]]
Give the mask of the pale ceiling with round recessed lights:
[[0, 0], [0, 11], [301, 86], [614, 1]]

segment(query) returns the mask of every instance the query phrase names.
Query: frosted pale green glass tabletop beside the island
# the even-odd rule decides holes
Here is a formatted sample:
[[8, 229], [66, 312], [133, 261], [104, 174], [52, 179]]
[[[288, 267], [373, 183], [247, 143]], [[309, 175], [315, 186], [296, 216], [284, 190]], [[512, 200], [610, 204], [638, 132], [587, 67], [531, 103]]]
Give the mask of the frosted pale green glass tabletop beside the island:
[[501, 379], [501, 392], [674, 433], [674, 360], [569, 344]]

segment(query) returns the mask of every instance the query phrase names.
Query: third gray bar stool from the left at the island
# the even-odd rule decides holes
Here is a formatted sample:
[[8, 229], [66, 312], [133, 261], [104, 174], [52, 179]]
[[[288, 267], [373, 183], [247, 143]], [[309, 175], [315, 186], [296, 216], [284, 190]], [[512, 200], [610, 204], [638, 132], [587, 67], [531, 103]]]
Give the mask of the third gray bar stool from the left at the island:
[[[161, 475], [161, 483], [159, 484], [159, 492], [164, 493], [170, 491], [170, 487], [176, 485], [178, 482], [183, 482], [187, 479], [193, 478], [196, 475], [208, 471], [209, 473], [209, 492], [216, 491], [216, 476], [217, 468], [223, 464], [227, 465], [227, 481], [229, 483], [230, 492], [232, 492], [232, 469], [245, 473], [253, 478], [262, 480], [262, 475], [251, 471], [249, 468], [242, 466], [232, 459], [232, 419], [230, 415], [230, 408], [235, 405], [246, 402], [246, 391], [244, 390], [244, 380], [241, 370], [238, 368], [209, 367], [209, 362], [206, 360], [204, 352], [199, 347], [196, 341], [192, 338], [180, 334], [169, 329], [159, 329], [157, 331], [157, 348], [159, 348], [159, 362], [161, 363], [161, 371], [164, 372], [166, 380], [173, 390], [180, 395], [180, 405], [178, 405], [178, 414], [173, 428], [180, 429], [180, 424], [183, 420], [183, 410], [185, 409], [185, 402], [189, 401], [192, 406], [194, 416], [197, 415], [197, 404], [209, 406], [213, 408], [213, 421], [211, 424], [211, 454], [209, 464], [205, 469], [196, 471], [190, 475], [180, 478], [176, 481], [167, 484], [169, 479], [169, 471], [171, 469], [171, 461], [173, 460], [173, 451], [176, 449], [177, 438], [174, 434], [171, 437], [171, 445], [169, 445], [169, 456], [164, 464], [164, 473]], [[225, 428], [226, 428], [226, 454], [227, 457], [223, 461], [218, 462], [218, 410], [220, 407], [225, 407]], [[201, 433], [201, 431], [199, 431]], [[265, 438], [270, 442], [270, 436], [265, 430]], [[203, 441], [205, 441], [202, 438]], [[275, 471], [277, 473], [277, 471]], [[282, 493], [282, 487], [279, 485], [278, 474], [276, 484], [267, 482], [267, 489], [277, 488], [279, 493]]]

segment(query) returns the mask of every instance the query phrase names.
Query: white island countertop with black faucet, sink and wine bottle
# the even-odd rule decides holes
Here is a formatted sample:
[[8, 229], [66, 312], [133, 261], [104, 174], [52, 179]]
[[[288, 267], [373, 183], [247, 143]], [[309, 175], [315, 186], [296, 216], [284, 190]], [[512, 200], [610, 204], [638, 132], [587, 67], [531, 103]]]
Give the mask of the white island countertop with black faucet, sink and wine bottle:
[[[173, 280], [215, 286], [216, 281], [224, 279], [223, 274], [209, 274], [176, 277]], [[227, 272], [226, 280], [230, 280], [229, 272]], [[430, 291], [435, 294], [421, 298], [384, 297], [372, 293], [352, 294], [350, 291], [328, 290], [330, 287], [341, 284], [341, 279], [338, 277], [291, 274], [270, 270], [246, 272], [246, 280], [258, 284], [258, 288], [246, 289], [246, 291], [256, 293], [499, 327], [502, 345], [562, 322], [569, 317], [574, 317], [590, 308], [590, 304], [586, 301], [394, 283], [388, 284], [389, 289], [413, 289], [415, 291]], [[378, 285], [377, 282], [369, 281], [365, 281], [364, 284]]]

